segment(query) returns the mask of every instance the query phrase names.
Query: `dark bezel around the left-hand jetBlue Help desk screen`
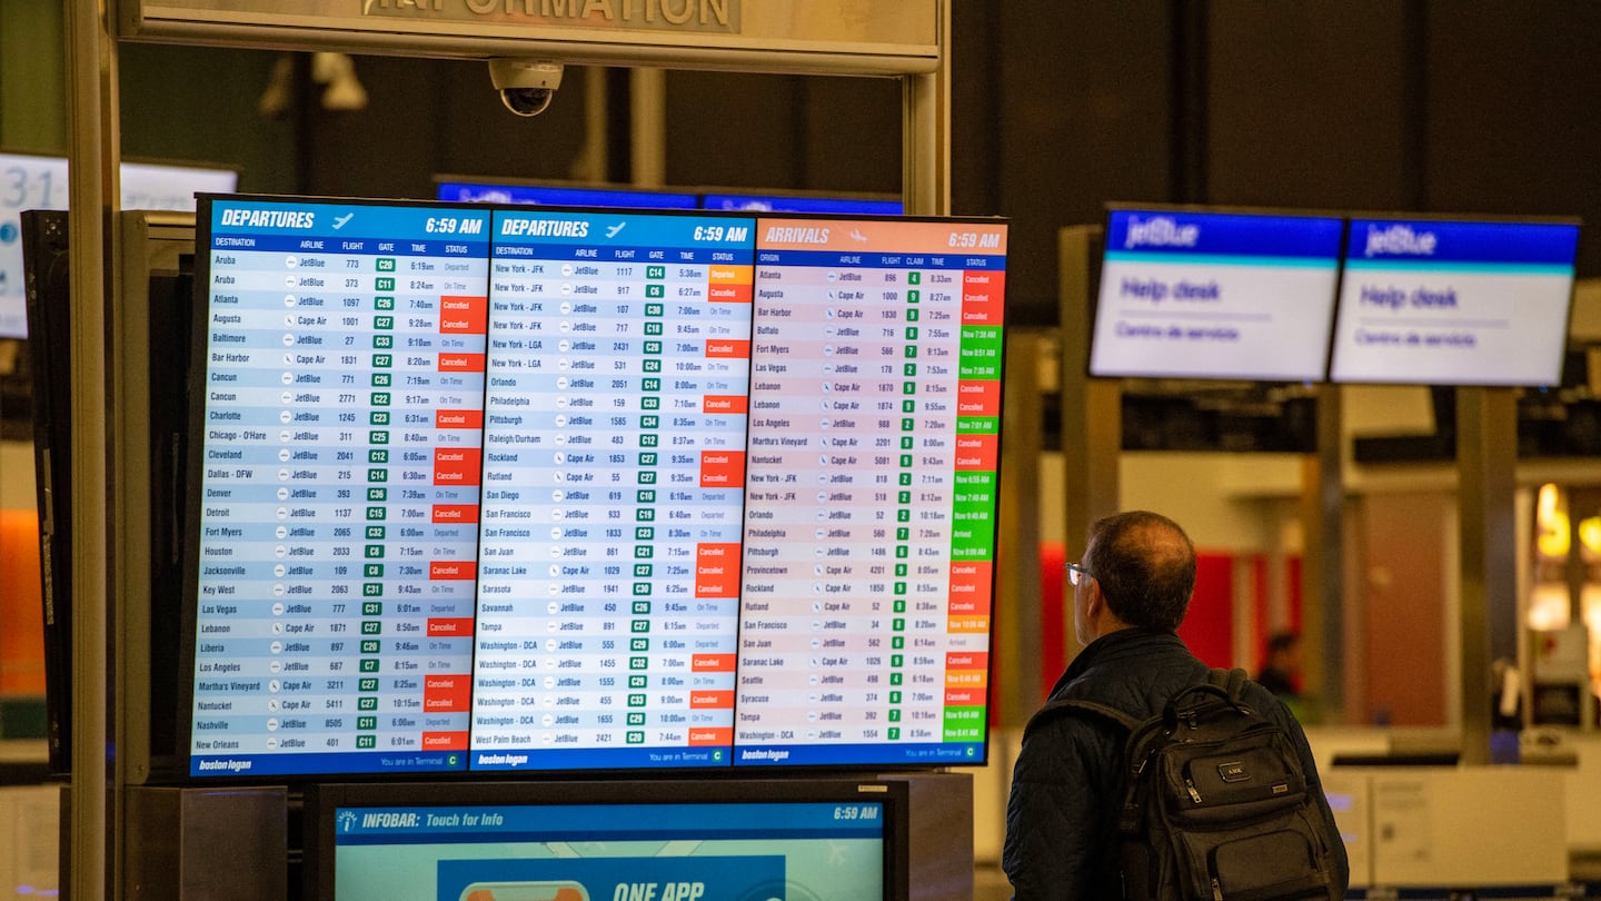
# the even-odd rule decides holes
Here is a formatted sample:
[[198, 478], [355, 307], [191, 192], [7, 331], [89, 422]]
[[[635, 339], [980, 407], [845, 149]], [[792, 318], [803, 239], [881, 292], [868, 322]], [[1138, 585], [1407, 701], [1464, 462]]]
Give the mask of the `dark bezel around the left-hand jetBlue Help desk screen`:
[[[1337, 240], [1334, 245], [1334, 255], [1329, 257], [1332, 268], [1332, 279], [1329, 284], [1327, 297], [1324, 298], [1326, 313], [1321, 319], [1322, 340], [1319, 346], [1319, 358], [1314, 366], [1306, 367], [1305, 372], [1287, 374], [1287, 372], [1262, 372], [1241, 369], [1238, 372], [1193, 372], [1193, 370], [1161, 370], [1158, 367], [1126, 367], [1111, 369], [1106, 366], [1097, 366], [1097, 349], [1103, 348], [1105, 343], [1098, 340], [1098, 327], [1101, 317], [1106, 316], [1101, 295], [1106, 290], [1106, 257], [1111, 252], [1113, 240], [1113, 221], [1119, 215], [1134, 213], [1151, 213], [1151, 215], [1190, 215], [1190, 216], [1217, 216], [1217, 218], [1282, 218], [1286, 221], [1294, 220], [1310, 220], [1322, 221], [1335, 226]], [[1105, 213], [1101, 216], [1101, 236], [1097, 242], [1097, 258], [1092, 261], [1093, 277], [1090, 282], [1090, 295], [1087, 298], [1089, 306], [1089, 338], [1085, 341], [1084, 370], [1090, 378], [1148, 378], [1148, 380], [1194, 380], [1194, 382], [1258, 382], [1258, 383], [1295, 383], [1295, 382], [1321, 382], [1327, 375], [1329, 369], [1329, 337], [1334, 332], [1334, 306], [1340, 289], [1340, 258], [1338, 250], [1343, 245], [1345, 236], [1345, 216], [1332, 210], [1292, 210], [1292, 208], [1274, 208], [1274, 207], [1199, 207], [1188, 204], [1134, 204], [1134, 202], [1113, 202], [1106, 204]], [[1239, 359], [1239, 354], [1234, 356]]]

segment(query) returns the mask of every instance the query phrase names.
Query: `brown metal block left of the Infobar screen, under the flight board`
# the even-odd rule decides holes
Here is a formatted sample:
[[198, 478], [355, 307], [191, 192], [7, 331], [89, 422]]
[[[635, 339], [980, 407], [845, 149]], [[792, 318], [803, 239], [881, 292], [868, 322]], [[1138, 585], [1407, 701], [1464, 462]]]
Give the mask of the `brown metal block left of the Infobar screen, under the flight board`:
[[288, 789], [128, 789], [130, 901], [288, 898]]

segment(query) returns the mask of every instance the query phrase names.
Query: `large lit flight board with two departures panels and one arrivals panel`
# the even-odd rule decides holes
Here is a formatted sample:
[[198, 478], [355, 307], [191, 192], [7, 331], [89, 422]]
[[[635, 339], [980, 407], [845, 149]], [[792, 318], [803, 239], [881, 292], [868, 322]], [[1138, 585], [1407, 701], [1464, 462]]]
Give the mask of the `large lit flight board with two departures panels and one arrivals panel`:
[[197, 221], [191, 776], [983, 762], [1002, 223]]

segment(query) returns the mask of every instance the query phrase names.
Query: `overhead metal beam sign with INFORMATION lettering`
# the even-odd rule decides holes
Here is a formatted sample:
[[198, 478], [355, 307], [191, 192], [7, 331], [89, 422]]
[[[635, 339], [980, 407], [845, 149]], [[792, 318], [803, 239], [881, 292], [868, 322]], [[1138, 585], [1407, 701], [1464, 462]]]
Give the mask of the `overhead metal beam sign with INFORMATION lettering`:
[[122, 0], [120, 35], [421, 56], [930, 72], [943, 0]]

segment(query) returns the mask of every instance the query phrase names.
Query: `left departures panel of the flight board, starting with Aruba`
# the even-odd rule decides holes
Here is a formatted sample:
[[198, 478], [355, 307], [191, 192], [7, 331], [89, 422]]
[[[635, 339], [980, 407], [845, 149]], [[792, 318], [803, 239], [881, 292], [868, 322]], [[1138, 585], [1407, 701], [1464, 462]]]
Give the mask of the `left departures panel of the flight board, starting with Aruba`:
[[191, 774], [464, 770], [488, 213], [207, 210]]

